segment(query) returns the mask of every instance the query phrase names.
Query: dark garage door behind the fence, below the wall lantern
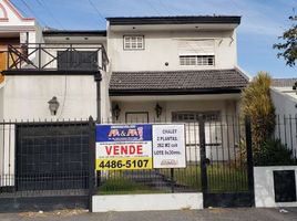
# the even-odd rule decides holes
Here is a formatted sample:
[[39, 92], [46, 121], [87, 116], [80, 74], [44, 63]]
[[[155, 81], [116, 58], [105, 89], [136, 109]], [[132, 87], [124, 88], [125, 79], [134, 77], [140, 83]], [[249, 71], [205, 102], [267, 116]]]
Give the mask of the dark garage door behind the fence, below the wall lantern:
[[88, 123], [18, 125], [16, 160], [18, 190], [86, 189]]

